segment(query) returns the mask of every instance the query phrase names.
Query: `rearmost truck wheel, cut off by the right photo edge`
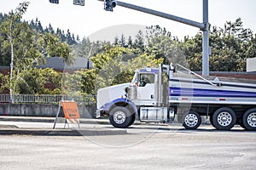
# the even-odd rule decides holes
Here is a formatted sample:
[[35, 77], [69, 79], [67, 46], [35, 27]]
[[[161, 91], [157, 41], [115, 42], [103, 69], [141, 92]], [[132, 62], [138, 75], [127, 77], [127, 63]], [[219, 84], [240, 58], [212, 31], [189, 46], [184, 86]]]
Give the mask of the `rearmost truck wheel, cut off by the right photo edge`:
[[256, 108], [249, 109], [243, 114], [242, 123], [247, 130], [256, 130]]

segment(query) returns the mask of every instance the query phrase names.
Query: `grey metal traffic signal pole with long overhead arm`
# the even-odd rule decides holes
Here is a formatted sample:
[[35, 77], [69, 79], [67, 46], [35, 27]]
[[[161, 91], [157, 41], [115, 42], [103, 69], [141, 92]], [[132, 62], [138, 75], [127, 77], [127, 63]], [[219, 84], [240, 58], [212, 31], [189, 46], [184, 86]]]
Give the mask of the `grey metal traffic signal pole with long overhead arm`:
[[[104, 0], [98, 0], [104, 2]], [[162, 13], [160, 11], [156, 11], [149, 8], [143, 8], [137, 5], [133, 5], [131, 3], [123, 3], [120, 1], [114, 1], [118, 6], [131, 8], [133, 10], [137, 10], [147, 14], [153, 14], [155, 16], [159, 16], [162, 18], [166, 18], [168, 20], [174, 20], [189, 26], [195, 26], [200, 28], [203, 31], [203, 41], [202, 41], [202, 75], [209, 76], [209, 29], [208, 29], [208, 0], [203, 0], [203, 22], [196, 22], [194, 20], [184, 19], [182, 17], [178, 17], [172, 14]]]

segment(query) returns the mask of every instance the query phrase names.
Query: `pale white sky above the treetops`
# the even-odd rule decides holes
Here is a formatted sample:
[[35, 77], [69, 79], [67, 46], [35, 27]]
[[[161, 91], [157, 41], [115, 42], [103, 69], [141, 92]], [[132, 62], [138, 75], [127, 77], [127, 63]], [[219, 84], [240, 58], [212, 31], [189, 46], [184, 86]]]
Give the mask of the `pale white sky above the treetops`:
[[[8, 13], [15, 9], [24, 0], [0, 0], [0, 11]], [[24, 15], [25, 20], [38, 20], [42, 25], [51, 26], [67, 32], [69, 29], [75, 35], [90, 37], [96, 31], [109, 26], [154, 26], [160, 25], [171, 31], [173, 36], [195, 36], [198, 28], [186, 26], [172, 20], [162, 19], [150, 14], [143, 14], [135, 10], [117, 6], [113, 12], [103, 9], [103, 3], [97, 0], [85, 0], [85, 6], [73, 5], [73, 0], [59, 0], [59, 4], [49, 3], [49, 0], [26, 0], [30, 2]], [[167, 14], [177, 15], [189, 20], [202, 22], [202, 0], [120, 0], [145, 8], [152, 8]], [[209, 0], [209, 22], [212, 26], [223, 27], [225, 21], [235, 21], [238, 17], [245, 28], [256, 33], [256, 1], [255, 0]], [[124, 26], [120, 27], [121, 31]], [[137, 30], [138, 31], [138, 30]], [[106, 33], [106, 31], [105, 31]], [[137, 32], [134, 32], [137, 33]], [[128, 35], [127, 35], [128, 36]]]

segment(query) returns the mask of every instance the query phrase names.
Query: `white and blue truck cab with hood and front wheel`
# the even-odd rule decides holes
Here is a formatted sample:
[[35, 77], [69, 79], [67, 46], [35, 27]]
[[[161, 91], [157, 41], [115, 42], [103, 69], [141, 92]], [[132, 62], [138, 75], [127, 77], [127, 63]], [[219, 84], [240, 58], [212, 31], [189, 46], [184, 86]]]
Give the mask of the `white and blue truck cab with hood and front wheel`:
[[[147, 66], [135, 71], [130, 83], [103, 88], [98, 91], [97, 100], [102, 101], [103, 94], [116, 94], [119, 96], [105, 99], [105, 104], [97, 110], [97, 116], [103, 113], [109, 115], [114, 127], [128, 127], [137, 117], [141, 122], [168, 122], [173, 119], [168, 114], [168, 75], [169, 65], [160, 65], [159, 68]], [[106, 98], [106, 97], [104, 97]], [[103, 103], [104, 103], [103, 102]], [[98, 105], [99, 106], [99, 105]]]

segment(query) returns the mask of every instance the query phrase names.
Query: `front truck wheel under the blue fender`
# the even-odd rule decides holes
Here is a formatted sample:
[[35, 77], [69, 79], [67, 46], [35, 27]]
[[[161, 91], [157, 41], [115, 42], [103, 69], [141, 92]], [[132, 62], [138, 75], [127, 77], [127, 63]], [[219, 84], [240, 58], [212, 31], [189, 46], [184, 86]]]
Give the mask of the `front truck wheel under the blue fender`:
[[109, 112], [109, 122], [113, 127], [125, 128], [133, 123], [133, 114], [123, 106], [116, 106]]

